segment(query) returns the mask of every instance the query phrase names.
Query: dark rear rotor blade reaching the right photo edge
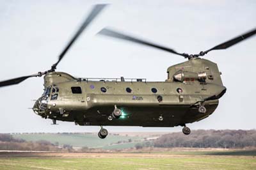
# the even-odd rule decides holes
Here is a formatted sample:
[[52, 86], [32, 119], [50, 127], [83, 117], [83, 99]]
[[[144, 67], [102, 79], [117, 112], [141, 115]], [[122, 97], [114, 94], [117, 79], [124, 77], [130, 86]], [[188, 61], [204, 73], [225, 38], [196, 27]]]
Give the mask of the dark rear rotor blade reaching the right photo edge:
[[253, 36], [256, 34], [256, 29], [253, 29], [252, 31], [249, 31], [247, 33], [244, 33], [243, 35], [237, 36], [236, 38], [233, 38], [231, 40], [228, 40], [227, 42], [221, 43], [219, 45], [216, 45], [215, 47], [213, 47], [212, 49], [209, 50], [205, 50], [204, 54], [206, 54], [207, 52], [211, 51], [211, 50], [222, 50], [222, 49], [227, 49], [228, 47], [231, 47], [232, 45], [235, 45], [236, 43], [239, 43], [243, 40], [245, 40], [246, 38], [249, 38], [250, 36]]

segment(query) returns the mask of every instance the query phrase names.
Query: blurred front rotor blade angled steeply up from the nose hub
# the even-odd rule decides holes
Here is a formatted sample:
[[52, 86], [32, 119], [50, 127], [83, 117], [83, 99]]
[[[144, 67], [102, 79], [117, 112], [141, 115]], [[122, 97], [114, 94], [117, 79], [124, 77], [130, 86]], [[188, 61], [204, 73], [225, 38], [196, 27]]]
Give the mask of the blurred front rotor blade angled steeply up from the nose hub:
[[93, 7], [92, 12], [90, 12], [89, 16], [86, 18], [86, 20], [84, 20], [83, 24], [81, 25], [81, 27], [79, 27], [76, 35], [74, 35], [74, 37], [70, 40], [70, 42], [67, 44], [67, 46], [65, 47], [65, 49], [61, 52], [58, 61], [52, 65], [52, 67], [55, 69], [56, 66], [58, 65], [58, 63], [60, 63], [61, 59], [63, 58], [63, 56], [65, 56], [65, 54], [67, 53], [68, 49], [70, 49], [70, 47], [72, 46], [72, 44], [76, 41], [76, 39], [78, 38], [79, 35], [81, 35], [81, 33], [83, 32], [83, 30], [92, 22], [93, 19], [95, 19], [95, 17], [103, 10], [103, 8], [106, 6], [107, 4], [97, 4]]

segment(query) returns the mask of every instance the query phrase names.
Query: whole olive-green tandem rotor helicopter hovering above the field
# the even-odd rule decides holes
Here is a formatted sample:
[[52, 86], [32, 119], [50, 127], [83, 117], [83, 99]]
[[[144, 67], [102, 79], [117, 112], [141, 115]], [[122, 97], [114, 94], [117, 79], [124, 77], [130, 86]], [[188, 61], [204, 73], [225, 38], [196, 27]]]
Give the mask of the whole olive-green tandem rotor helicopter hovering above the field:
[[44, 93], [36, 100], [33, 111], [42, 118], [51, 119], [53, 124], [60, 120], [73, 121], [76, 125], [99, 125], [98, 135], [101, 139], [108, 135], [108, 130], [103, 128], [106, 125], [182, 126], [182, 132], [190, 134], [191, 130], [186, 124], [211, 115], [226, 92], [216, 63], [201, 57], [211, 50], [227, 49], [255, 35], [256, 29], [199, 54], [186, 54], [104, 28], [99, 35], [165, 50], [187, 58], [188, 61], [170, 66], [167, 69], [168, 77], [162, 82], [124, 77], [75, 78], [68, 73], [56, 72], [56, 67], [68, 49], [105, 6], [106, 4], [97, 4], [93, 7], [50, 70], [2, 81], [0, 87], [19, 84], [30, 77], [44, 75]]

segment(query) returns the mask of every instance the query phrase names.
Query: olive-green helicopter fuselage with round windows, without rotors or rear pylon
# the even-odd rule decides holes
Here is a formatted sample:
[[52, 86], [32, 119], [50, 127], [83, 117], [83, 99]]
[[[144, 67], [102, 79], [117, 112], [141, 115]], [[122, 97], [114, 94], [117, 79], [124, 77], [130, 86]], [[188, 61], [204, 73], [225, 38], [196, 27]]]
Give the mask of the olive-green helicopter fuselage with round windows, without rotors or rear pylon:
[[[95, 81], [75, 79], [63, 72], [47, 73], [44, 79], [45, 93], [36, 102], [34, 111], [44, 118], [74, 121], [79, 125], [185, 125], [212, 114], [226, 90], [220, 83], [193, 79], [182, 82], [170, 79], [164, 82], [145, 79]], [[204, 104], [207, 111], [198, 112], [198, 104]], [[122, 111], [118, 119], [111, 118], [115, 107]]]

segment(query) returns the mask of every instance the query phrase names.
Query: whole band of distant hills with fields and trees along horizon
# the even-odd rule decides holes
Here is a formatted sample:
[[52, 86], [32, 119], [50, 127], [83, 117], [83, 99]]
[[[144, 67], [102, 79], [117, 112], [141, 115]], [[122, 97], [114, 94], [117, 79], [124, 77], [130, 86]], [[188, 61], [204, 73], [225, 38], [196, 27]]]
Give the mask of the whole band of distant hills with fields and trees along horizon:
[[256, 130], [193, 130], [182, 132], [0, 134], [0, 150], [92, 151], [135, 148], [256, 148]]

